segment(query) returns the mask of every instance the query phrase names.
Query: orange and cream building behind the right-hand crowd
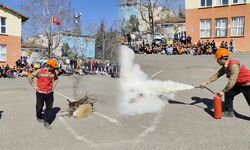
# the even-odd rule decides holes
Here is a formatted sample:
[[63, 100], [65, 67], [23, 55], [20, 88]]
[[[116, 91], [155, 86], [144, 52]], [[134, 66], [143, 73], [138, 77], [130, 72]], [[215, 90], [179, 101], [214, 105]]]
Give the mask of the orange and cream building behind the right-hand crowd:
[[186, 31], [192, 42], [233, 39], [234, 49], [250, 51], [250, 0], [185, 0]]

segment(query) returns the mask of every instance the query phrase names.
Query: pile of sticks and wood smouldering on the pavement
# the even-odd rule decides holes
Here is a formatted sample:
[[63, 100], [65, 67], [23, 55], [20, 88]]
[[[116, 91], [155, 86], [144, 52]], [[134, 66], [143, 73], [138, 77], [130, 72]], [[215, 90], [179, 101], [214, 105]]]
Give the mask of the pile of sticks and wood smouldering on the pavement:
[[74, 116], [76, 118], [82, 118], [89, 116], [93, 111], [93, 106], [96, 99], [93, 98], [93, 95], [85, 94], [85, 96], [77, 101], [69, 102], [69, 108], [62, 112], [61, 116]]

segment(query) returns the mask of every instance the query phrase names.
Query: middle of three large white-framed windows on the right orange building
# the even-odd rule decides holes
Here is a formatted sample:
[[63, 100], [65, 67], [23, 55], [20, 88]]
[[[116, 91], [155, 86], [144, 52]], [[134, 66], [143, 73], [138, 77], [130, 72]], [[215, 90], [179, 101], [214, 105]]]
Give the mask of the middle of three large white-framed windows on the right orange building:
[[224, 37], [227, 36], [227, 19], [215, 19], [215, 36]]

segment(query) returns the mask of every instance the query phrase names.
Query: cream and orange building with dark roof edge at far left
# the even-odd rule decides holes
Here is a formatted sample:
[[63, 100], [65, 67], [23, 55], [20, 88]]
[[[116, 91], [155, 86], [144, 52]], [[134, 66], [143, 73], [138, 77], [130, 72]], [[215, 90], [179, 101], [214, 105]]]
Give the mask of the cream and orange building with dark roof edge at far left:
[[22, 23], [28, 17], [0, 3], [0, 65], [10, 67], [21, 56]]

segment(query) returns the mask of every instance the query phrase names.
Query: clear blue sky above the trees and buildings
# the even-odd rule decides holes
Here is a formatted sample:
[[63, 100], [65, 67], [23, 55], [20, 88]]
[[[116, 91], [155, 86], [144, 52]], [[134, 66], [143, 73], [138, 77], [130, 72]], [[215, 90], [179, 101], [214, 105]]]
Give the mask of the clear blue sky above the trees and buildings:
[[[1, 3], [23, 13], [20, 4], [22, 0], [0, 0]], [[89, 23], [96, 23], [97, 25], [101, 20], [105, 20], [107, 26], [110, 26], [115, 19], [119, 16], [119, 0], [72, 0], [73, 9], [82, 13], [81, 23], [83, 25], [83, 32], [87, 30]], [[178, 9], [179, 4], [183, 4], [185, 0], [173, 0]], [[28, 14], [24, 14], [29, 16]], [[85, 26], [84, 26], [85, 25]]]

